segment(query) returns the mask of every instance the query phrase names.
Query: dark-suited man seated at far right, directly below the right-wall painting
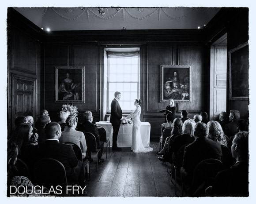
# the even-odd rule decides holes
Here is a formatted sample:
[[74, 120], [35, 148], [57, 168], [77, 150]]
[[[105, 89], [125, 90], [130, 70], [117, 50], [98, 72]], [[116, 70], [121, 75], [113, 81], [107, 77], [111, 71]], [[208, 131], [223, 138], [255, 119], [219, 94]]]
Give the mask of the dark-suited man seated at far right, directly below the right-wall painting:
[[230, 110], [229, 118], [231, 122], [225, 125], [224, 133], [230, 138], [237, 133], [237, 120], [240, 119], [239, 110]]

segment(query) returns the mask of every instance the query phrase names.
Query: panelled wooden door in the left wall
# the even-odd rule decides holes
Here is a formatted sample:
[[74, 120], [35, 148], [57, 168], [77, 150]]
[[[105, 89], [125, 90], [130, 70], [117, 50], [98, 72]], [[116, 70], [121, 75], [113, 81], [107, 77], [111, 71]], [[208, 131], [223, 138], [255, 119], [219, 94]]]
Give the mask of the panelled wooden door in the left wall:
[[33, 116], [34, 117], [34, 81], [14, 79], [13, 84], [13, 118], [18, 116]]

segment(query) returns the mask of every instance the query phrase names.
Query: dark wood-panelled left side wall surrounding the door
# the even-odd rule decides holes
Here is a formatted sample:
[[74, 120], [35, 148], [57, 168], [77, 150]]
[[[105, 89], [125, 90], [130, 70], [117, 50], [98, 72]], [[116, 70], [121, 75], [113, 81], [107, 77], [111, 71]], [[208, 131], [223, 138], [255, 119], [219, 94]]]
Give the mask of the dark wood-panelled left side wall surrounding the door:
[[[41, 103], [41, 44], [30, 30], [8, 21], [8, 133], [14, 127], [14, 79], [32, 81], [34, 86], [33, 117], [40, 114]], [[31, 107], [32, 108], [32, 107]]]

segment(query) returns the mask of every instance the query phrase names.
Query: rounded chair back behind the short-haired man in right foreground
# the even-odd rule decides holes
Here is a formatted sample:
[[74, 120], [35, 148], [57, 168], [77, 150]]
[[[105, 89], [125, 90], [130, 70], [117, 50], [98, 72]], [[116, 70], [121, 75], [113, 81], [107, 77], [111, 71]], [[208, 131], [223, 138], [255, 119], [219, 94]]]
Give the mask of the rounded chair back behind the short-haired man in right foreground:
[[199, 164], [196, 165], [194, 169], [192, 190], [197, 190], [197, 192], [200, 192], [200, 190], [198, 189], [199, 186], [201, 186], [203, 190], [205, 189], [204, 187], [211, 186], [215, 181], [217, 173], [219, 171], [222, 171], [223, 169], [224, 167], [220, 160], [206, 159], [201, 161]]

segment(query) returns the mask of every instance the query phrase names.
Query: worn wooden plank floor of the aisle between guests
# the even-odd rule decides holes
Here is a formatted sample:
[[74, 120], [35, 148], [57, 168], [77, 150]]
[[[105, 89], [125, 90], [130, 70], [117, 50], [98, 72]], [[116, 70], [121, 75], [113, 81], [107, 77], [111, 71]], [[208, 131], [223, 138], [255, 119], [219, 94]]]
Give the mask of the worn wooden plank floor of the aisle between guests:
[[[89, 197], [173, 197], [174, 185], [170, 181], [166, 164], [160, 162], [156, 152], [158, 142], [151, 142], [153, 152], [133, 153], [130, 148], [108, 154], [98, 167], [91, 163], [91, 180], [87, 182]], [[95, 157], [93, 157], [95, 158]], [[106, 159], [104, 153], [103, 158]]]

